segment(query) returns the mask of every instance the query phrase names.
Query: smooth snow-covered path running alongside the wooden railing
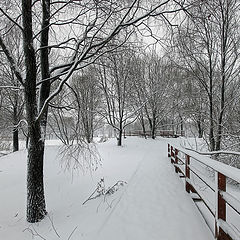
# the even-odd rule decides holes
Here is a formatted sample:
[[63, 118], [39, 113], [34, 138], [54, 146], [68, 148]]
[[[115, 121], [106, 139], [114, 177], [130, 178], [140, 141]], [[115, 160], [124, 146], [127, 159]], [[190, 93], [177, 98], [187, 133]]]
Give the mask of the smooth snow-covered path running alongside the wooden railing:
[[163, 139], [151, 144], [96, 239], [214, 239], [166, 156]]

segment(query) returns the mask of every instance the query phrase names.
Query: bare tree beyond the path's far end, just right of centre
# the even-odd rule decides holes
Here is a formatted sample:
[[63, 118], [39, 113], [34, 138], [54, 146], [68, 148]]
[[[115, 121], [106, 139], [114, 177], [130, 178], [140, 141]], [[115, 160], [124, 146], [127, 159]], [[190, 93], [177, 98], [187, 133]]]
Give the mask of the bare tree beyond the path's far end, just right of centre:
[[[142, 64], [135, 65], [134, 90], [138, 107], [142, 105], [142, 124], [148, 121], [151, 137], [155, 139], [157, 128], [172, 112], [170, 89], [174, 68], [167, 58], [160, 57], [156, 50], [141, 58]], [[145, 126], [144, 126], [145, 127]]]

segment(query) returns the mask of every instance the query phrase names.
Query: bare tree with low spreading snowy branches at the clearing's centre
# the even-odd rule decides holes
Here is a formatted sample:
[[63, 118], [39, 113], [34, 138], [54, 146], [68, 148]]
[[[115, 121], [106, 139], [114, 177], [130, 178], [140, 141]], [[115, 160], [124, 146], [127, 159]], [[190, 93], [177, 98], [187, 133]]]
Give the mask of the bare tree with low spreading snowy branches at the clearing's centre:
[[117, 134], [117, 145], [122, 145], [123, 131], [134, 122], [138, 111], [130, 103], [132, 50], [123, 49], [101, 59], [98, 69], [99, 85], [104, 104], [99, 111]]

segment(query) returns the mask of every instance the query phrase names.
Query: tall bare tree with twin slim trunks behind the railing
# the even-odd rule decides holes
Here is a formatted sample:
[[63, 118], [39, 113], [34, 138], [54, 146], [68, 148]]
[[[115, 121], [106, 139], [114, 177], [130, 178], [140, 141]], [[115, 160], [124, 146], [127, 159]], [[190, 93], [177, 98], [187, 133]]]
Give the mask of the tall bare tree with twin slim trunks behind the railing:
[[208, 97], [209, 143], [214, 151], [221, 148], [232, 102], [230, 86], [239, 73], [239, 4], [235, 0], [204, 1], [194, 3], [189, 12], [190, 18], [178, 29], [176, 46], [183, 57], [180, 65]]

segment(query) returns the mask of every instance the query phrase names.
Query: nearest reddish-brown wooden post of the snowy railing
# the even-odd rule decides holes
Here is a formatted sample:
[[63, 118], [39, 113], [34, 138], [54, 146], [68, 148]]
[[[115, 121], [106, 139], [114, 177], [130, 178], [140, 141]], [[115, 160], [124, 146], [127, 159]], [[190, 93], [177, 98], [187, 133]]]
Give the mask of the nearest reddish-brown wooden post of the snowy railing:
[[226, 221], [226, 201], [220, 194], [220, 191], [226, 191], [226, 176], [220, 172], [215, 172], [216, 181], [216, 216], [215, 216], [215, 237], [217, 240], [232, 240], [232, 238], [226, 234], [221, 227], [217, 226], [218, 219]]

